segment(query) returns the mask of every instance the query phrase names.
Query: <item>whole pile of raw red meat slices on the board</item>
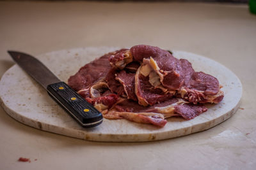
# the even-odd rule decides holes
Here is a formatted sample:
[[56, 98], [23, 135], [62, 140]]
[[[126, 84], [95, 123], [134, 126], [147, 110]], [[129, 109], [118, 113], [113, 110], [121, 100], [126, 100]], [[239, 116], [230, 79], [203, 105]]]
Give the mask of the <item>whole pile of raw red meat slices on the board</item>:
[[148, 45], [107, 53], [70, 76], [68, 85], [104, 118], [159, 127], [168, 117], [195, 118], [207, 111], [204, 103], [220, 103], [224, 97], [217, 78]]

